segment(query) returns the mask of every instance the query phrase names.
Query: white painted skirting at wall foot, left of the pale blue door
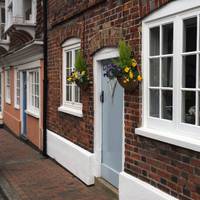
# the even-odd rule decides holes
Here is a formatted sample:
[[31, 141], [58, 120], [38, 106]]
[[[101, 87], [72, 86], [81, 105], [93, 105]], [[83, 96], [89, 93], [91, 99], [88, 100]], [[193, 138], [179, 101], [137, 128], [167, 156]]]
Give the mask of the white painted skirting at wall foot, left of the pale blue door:
[[47, 154], [87, 185], [94, 184], [94, 154], [47, 130]]

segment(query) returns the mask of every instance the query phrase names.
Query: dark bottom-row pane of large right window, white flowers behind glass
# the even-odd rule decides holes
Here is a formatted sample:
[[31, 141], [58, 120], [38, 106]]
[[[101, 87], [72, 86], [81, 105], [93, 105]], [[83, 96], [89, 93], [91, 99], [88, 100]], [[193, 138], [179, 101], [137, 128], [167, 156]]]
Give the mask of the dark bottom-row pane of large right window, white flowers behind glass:
[[182, 121], [185, 123], [195, 124], [195, 94], [191, 91], [182, 93]]

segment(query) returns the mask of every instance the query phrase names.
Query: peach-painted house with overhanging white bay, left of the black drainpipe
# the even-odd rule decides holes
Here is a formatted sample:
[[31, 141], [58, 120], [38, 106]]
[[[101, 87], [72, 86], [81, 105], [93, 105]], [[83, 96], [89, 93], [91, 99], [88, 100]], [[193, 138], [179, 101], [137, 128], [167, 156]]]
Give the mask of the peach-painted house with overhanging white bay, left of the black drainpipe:
[[2, 122], [14, 134], [42, 149], [42, 1], [6, 0], [2, 5]]

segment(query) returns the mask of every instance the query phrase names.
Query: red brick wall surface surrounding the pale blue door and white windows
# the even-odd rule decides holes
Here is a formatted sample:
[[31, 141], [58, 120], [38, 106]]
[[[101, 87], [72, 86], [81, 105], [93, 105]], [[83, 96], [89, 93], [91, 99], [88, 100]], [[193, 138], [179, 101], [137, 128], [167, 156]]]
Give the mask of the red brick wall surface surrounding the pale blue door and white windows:
[[[58, 112], [62, 102], [61, 44], [70, 37], [81, 38], [91, 79], [93, 54], [103, 47], [117, 46], [119, 38], [130, 43], [135, 58], [140, 62], [141, 18], [167, 1], [102, 1], [93, 4], [87, 12], [75, 5], [73, 14], [59, 13], [62, 3], [57, 2], [49, 0], [48, 5], [48, 129], [93, 151], [93, 85], [88, 91], [82, 91], [83, 118]], [[140, 92], [126, 92], [125, 171], [179, 199], [200, 199], [200, 154], [136, 136], [135, 128], [140, 126], [140, 122]]]

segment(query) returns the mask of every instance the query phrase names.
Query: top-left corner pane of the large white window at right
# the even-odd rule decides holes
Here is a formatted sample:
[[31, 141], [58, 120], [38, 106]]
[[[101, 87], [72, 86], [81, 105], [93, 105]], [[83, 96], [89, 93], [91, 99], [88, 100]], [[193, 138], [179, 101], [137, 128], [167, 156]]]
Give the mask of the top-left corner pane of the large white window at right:
[[150, 29], [150, 56], [160, 54], [160, 27]]

